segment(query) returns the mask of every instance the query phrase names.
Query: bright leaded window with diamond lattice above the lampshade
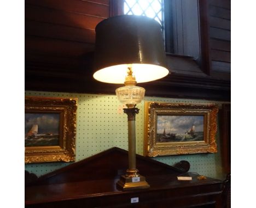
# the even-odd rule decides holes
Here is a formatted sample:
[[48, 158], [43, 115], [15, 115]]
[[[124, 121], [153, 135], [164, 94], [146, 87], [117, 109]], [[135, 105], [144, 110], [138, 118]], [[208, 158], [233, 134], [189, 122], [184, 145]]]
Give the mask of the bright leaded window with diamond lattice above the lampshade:
[[143, 15], [162, 23], [162, 0], [125, 0], [125, 15]]

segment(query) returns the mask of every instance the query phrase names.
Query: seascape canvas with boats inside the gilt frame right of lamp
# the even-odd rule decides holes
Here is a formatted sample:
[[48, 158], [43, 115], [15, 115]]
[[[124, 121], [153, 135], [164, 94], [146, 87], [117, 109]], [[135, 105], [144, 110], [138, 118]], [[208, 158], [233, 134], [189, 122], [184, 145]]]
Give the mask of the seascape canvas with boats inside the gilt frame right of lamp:
[[203, 115], [158, 115], [157, 142], [203, 140]]

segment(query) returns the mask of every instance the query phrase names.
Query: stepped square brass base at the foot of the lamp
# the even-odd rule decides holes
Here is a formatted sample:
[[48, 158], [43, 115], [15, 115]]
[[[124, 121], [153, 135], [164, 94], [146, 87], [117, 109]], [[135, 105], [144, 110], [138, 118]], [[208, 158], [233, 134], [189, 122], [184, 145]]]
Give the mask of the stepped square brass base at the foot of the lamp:
[[138, 182], [132, 182], [131, 177], [126, 177], [125, 175], [122, 175], [120, 180], [117, 182], [117, 187], [126, 190], [132, 190], [132, 189], [143, 189], [143, 188], [149, 188], [148, 182], [145, 180], [145, 177], [140, 175], [138, 176], [139, 181]]

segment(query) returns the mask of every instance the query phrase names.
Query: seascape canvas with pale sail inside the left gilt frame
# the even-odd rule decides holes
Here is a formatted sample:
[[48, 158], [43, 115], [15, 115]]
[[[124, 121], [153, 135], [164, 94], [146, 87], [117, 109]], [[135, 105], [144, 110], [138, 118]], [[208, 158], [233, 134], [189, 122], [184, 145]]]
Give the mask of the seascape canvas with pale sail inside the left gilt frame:
[[25, 146], [59, 145], [59, 113], [25, 113]]

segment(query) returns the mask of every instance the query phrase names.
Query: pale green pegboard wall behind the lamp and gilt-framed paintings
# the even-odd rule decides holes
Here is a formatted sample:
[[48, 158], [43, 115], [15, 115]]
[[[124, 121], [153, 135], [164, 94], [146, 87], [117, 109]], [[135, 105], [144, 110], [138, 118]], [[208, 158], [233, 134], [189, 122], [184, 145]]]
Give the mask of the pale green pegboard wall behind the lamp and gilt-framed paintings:
[[[52, 93], [42, 91], [25, 91], [26, 96], [45, 97], [77, 97], [77, 137], [75, 162], [98, 152], [117, 146], [128, 149], [127, 115], [123, 113], [124, 106], [115, 95]], [[189, 99], [170, 99], [162, 97], [145, 97], [144, 101], [183, 102], [183, 103], [217, 103], [222, 102]], [[143, 155], [144, 140], [144, 101], [137, 107], [136, 115], [136, 153]], [[190, 154], [155, 157], [154, 160], [173, 165], [181, 160], [190, 163], [190, 172], [197, 172], [212, 178], [223, 179], [219, 148], [219, 133], [216, 136], [218, 152], [216, 154]], [[71, 163], [33, 163], [25, 164], [25, 169], [37, 176], [49, 173]]]

